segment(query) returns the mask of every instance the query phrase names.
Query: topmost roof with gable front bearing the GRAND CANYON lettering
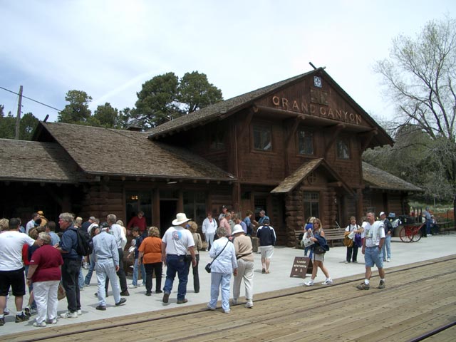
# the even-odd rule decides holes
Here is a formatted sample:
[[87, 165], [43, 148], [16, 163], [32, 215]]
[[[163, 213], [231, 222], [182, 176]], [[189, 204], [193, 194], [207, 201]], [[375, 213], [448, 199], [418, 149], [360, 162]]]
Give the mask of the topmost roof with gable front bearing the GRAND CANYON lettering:
[[[305, 91], [310, 93], [309, 98], [303, 100], [302, 98], [293, 98], [292, 96], [281, 96], [286, 88], [291, 88], [296, 83], [302, 82], [307, 85], [307, 90]], [[340, 98], [338, 103], [341, 103], [341, 106], [337, 106], [330, 101], [330, 95], [333, 97], [335, 94]], [[243, 108], [257, 107], [257, 103], [264, 103], [264, 99], [269, 99], [271, 108], [284, 110], [286, 113], [311, 115], [315, 118], [343, 122], [363, 128], [365, 131], [378, 131], [375, 139], [370, 143], [371, 147], [377, 145], [393, 145], [393, 139], [390, 138], [388, 133], [341, 86], [338, 86], [338, 83], [323, 68], [317, 68], [308, 73], [288, 78], [270, 86], [253, 90], [249, 93], [230, 98], [229, 100], [220, 101], [214, 105], [209, 105], [188, 115], [183, 115], [180, 118], [152, 128], [148, 132], [148, 138], [159, 139], [164, 135], [172, 135], [180, 130], [204, 125], [212, 120], [227, 118], [229, 115], [237, 113], [237, 111]]]

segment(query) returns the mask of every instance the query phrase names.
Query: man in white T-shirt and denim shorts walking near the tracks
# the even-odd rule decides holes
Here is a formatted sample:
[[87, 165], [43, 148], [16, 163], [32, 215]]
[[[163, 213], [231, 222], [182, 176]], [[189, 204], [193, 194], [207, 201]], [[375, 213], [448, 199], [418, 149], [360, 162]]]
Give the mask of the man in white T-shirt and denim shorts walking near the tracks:
[[383, 270], [383, 255], [382, 247], [385, 243], [385, 229], [382, 221], [375, 221], [373, 212], [367, 213], [368, 222], [364, 227], [363, 239], [363, 254], [366, 262], [366, 276], [364, 281], [356, 286], [359, 290], [368, 290], [370, 288], [370, 280], [372, 276], [371, 268], [375, 264], [378, 268], [380, 276], [380, 284], [378, 289], [385, 289], [385, 271]]

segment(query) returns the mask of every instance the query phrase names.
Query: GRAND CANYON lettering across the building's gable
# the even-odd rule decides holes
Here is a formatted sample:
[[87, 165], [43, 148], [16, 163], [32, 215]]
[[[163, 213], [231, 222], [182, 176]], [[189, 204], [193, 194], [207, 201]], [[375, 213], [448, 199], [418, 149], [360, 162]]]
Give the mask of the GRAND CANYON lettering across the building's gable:
[[314, 115], [320, 118], [328, 118], [331, 120], [343, 121], [344, 123], [352, 123], [355, 125], [361, 125], [361, 123], [363, 122], [363, 118], [360, 114], [348, 112], [347, 110], [343, 109], [331, 108], [328, 105], [321, 105], [321, 102], [327, 103], [327, 100], [324, 97], [324, 95], [320, 95], [318, 101], [318, 103], [308, 103], [304, 100], [291, 100], [289, 98], [280, 98], [276, 95], [272, 97], [273, 105], [280, 109], [292, 110], [294, 112]]

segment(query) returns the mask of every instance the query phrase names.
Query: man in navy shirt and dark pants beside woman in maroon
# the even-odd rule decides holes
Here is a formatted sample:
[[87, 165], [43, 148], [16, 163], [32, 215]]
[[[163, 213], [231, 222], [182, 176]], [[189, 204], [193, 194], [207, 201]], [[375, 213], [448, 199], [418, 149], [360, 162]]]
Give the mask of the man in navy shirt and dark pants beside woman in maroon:
[[82, 314], [78, 278], [81, 270], [82, 254], [78, 254], [78, 229], [73, 224], [73, 214], [63, 212], [58, 216], [58, 224], [64, 231], [58, 250], [63, 257], [62, 284], [66, 291], [68, 311], [61, 318], [78, 318]]

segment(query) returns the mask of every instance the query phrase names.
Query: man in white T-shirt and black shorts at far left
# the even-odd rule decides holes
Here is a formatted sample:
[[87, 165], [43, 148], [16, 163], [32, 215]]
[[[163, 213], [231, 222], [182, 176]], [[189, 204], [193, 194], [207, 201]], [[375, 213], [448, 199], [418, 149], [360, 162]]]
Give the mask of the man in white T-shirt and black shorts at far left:
[[28, 316], [22, 311], [22, 302], [26, 294], [24, 265], [22, 264], [22, 247], [39, 244], [27, 234], [19, 232], [21, 221], [16, 218], [9, 220], [8, 230], [0, 234], [0, 326], [5, 323], [4, 309], [6, 296], [11, 286], [14, 303], [16, 304], [16, 323], [28, 321]]

